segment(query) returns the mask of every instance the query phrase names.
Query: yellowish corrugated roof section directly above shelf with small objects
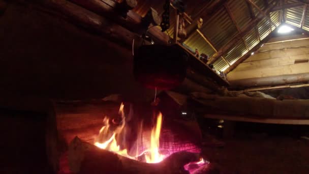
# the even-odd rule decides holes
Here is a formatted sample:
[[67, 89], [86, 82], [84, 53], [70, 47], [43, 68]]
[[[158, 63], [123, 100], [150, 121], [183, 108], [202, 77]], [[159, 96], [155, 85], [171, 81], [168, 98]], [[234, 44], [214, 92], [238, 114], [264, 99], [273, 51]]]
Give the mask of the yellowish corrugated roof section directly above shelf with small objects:
[[204, 53], [211, 56], [215, 53], [211, 46], [200, 36], [198, 32], [195, 32], [192, 36], [190, 36], [184, 44], [193, 49], [197, 48], [200, 54]]

